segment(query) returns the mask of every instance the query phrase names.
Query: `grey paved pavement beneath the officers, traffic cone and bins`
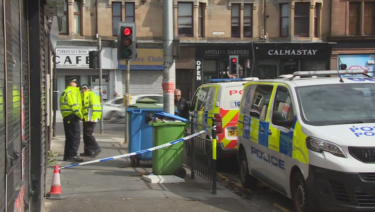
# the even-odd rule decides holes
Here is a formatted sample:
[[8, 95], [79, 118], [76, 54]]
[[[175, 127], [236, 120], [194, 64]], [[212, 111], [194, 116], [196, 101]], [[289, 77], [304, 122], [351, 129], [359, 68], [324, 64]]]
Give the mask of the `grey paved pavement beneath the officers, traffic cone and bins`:
[[[74, 164], [63, 161], [64, 138], [56, 137], [51, 149], [59, 154], [55, 163], [49, 165], [46, 190], [51, 188], [54, 165]], [[127, 145], [111, 135], [97, 136], [105, 158], [127, 153]], [[78, 153], [83, 152], [81, 142]], [[93, 158], [84, 158], [85, 161]], [[260, 211], [249, 200], [243, 200], [230, 190], [217, 184], [217, 194], [211, 193], [211, 184], [195, 175], [191, 179], [187, 169], [185, 183], [148, 183], [141, 179], [142, 172], [152, 172], [150, 161], [141, 161], [133, 168], [128, 158], [80, 165], [61, 170], [60, 180], [65, 200], [46, 200], [45, 212], [78, 211], [163, 211], [163, 212], [243, 212]]]

